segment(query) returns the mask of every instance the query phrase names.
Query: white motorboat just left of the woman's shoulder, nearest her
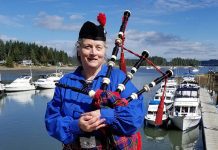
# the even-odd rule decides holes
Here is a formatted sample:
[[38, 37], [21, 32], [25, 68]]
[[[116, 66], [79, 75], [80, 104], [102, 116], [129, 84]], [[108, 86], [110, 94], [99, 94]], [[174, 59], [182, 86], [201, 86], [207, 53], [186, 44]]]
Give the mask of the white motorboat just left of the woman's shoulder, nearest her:
[[63, 74], [61, 72], [56, 72], [48, 75], [46, 78], [39, 78], [36, 82], [34, 82], [34, 84], [36, 88], [40, 89], [54, 89], [55, 83], [57, 83], [62, 77]]

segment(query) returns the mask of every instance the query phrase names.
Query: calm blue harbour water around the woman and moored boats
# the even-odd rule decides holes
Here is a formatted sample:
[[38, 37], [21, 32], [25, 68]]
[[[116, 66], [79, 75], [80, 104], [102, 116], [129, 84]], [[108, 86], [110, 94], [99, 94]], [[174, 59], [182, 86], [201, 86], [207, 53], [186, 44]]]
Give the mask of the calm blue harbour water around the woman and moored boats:
[[[206, 71], [208, 68], [201, 68], [200, 73]], [[33, 71], [33, 75], [36, 78], [39, 74], [49, 72]], [[175, 70], [179, 76], [187, 72], [187, 69], [183, 68]], [[28, 74], [29, 71], [1, 71], [2, 81], [14, 80], [25, 73]], [[136, 73], [133, 82], [140, 89], [143, 84], [149, 83], [158, 76], [159, 74], [154, 70], [141, 69]], [[145, 107], [157, 88], [158, 86], [144, 94]], [[44, 126], [46, 104], [52, 96], [53, 90], [36, 90], [8, 93], [0, 99], [0, 150], [61, 149], [61, 143], [49, 137]], [[143, 137], [143, 149], [203, 149], [199, 127], [189, 132], [181, 132], [175, 128], [143, 126], [140, 132]]]

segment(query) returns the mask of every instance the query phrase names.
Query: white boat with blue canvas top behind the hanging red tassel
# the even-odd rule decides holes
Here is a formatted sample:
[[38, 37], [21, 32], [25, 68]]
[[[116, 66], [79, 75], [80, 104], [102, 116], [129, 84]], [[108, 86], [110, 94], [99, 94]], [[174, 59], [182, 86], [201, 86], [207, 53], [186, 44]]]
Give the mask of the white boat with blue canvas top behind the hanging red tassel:
[[[158, 110], [158, 105], [160, 104], [159, 100], [151, 100], [148, 105], [148, 113], [145, 116], [145, 119], [148, 124], [155, 126], [155, 119]], [[167, 122], [168, 114], [166, 112], [166, 106], [164, 105], [163, 116], [162, 116], [162, 125]]]

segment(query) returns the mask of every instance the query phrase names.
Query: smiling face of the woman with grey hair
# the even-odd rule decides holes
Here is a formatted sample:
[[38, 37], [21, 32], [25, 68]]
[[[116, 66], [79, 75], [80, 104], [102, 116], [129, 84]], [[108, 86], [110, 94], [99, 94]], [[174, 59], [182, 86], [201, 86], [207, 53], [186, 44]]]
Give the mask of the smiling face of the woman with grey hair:
[[98, 70], [105, 62], [105, 42], [91, 39], [81, 40], [78, 47], [78, 56], [86, 70]]

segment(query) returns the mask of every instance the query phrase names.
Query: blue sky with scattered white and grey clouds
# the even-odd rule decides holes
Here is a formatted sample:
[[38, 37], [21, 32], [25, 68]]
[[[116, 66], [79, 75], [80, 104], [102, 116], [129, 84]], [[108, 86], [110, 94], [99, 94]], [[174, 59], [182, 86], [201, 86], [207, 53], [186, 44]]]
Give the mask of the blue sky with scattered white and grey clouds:
[[[218, 0], [0, 0], [0, 39], [64, 50], [74, 45], [86, 21], [105, 13], [110, 58], [125, 10], [131, 12], [125, 47], [138, 54], [218, 59]], [[136, 58], [125, 52], [127, 58]]]

